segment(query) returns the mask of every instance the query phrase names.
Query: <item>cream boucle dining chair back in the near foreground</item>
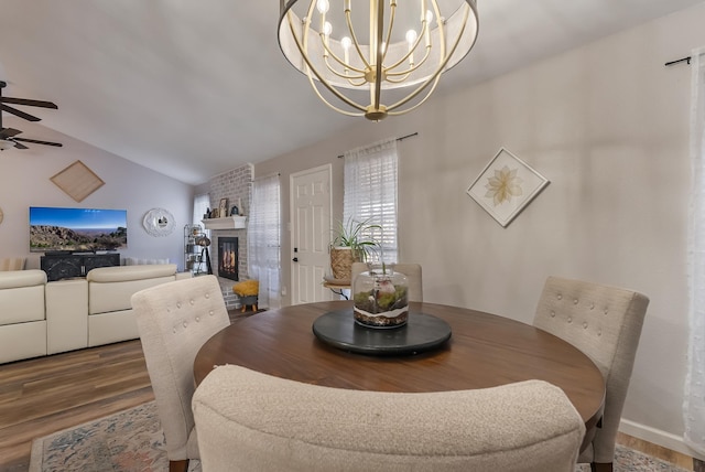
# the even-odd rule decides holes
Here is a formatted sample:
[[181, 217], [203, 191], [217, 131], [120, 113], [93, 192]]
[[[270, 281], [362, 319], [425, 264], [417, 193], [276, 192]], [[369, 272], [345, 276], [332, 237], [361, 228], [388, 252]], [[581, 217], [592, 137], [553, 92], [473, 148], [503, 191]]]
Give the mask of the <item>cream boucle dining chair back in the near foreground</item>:
[[224, 365], [200, 383], [193, 411], [204, 472], [573, 472], [585, 433], [543, 380], [403, 394]]

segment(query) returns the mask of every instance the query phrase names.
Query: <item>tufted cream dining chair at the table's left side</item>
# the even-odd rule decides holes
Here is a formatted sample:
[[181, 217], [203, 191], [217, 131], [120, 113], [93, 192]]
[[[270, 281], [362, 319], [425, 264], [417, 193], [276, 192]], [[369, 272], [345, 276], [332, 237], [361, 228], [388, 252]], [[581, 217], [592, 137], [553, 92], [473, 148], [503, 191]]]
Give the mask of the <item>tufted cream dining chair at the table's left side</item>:
[[132, 309], [164, 429], [170, 471], [198, 459], [191, 399], [194, 360], [203, 344], [230, 324], [215, 276], [177, 280], [139, 291]]

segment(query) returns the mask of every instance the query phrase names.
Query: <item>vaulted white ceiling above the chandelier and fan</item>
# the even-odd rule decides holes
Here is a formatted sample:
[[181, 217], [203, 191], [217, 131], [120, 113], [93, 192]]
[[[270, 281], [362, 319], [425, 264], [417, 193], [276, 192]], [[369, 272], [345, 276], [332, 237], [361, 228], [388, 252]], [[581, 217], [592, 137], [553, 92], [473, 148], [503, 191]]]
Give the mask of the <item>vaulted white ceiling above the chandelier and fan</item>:
[[[701, 2], [478, 0], [478, 42], [443, 87]], [[58, 110], [23, 110], [50, 129], [198, 184], [364, 119], [318, 101], [279, 50], [278, 19], [278, 0], [0, 0], [3, 95], [54, 101]]]

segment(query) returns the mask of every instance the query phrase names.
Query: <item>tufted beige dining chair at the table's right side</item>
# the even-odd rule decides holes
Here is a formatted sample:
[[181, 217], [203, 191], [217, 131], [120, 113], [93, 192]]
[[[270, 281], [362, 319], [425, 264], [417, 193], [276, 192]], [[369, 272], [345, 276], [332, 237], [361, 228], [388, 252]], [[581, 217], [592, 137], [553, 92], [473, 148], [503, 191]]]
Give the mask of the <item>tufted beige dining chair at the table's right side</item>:
[[581, 350], [605, 378], [601, 426], [578, 462], [611, 471], [615, 440], [649, 298], [632, 290], [549, 277], [533, 325]]

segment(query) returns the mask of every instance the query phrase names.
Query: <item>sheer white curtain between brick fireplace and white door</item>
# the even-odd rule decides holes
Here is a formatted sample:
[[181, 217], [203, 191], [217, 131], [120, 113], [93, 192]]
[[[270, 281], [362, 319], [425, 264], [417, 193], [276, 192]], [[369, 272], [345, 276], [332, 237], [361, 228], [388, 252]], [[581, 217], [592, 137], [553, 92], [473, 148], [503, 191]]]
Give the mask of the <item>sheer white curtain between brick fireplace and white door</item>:
[[250, 279], [259, 280], [258, 307], [281, 305], [281, 211], [279, 175], [252, 182], [252, 203], [247, 230], [247, 260]]

